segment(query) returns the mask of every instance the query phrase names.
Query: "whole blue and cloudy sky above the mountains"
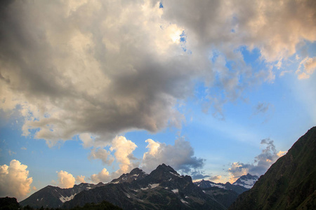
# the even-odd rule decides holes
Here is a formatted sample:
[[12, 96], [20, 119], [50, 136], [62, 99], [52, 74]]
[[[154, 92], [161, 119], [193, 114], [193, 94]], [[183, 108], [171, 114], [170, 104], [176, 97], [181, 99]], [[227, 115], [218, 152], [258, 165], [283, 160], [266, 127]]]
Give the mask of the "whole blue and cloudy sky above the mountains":
[[316, 2], [1, 1], [0, 196], [165, 163], [260, 176], [316, 125]]

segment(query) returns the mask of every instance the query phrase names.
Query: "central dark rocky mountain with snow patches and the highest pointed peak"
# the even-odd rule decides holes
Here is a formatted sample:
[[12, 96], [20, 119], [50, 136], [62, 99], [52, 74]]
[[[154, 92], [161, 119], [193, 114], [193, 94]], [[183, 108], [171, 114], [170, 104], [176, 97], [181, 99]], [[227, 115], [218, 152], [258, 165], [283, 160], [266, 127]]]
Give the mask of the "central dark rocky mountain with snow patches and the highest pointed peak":
[[180, 176], [164, 164], [143, 179], [109, 183], [82, 191], [73, 200], [65, 202], [63, 207], [82, 207], [86, 203], [99, 203], [103, 200], [122, 209], [226, 209], [211, 195], [195, 186], [190, 176]]

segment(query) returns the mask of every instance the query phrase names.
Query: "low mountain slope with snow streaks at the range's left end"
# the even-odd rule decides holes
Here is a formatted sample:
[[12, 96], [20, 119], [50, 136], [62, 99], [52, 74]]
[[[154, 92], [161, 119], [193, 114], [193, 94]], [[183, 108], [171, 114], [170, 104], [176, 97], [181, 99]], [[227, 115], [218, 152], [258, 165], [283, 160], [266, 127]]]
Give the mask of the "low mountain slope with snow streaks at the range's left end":
[[103, 183], [98, 183], [98, 185], [93, 185], [89, 183], [81, 183], [75, 185], [73, 188], [62, 189], [54, 186], [46, 186], [45, 188], [37, 191], [27, 199], [22, 200], [20, 205], [25, 207], [40, 208], [58, 208], [62, 207], [62, 204], [68, 200], [72, 200], [74, 195], [77, 195], [83, 190], [90, 190], [98, 186], [103, 186]]

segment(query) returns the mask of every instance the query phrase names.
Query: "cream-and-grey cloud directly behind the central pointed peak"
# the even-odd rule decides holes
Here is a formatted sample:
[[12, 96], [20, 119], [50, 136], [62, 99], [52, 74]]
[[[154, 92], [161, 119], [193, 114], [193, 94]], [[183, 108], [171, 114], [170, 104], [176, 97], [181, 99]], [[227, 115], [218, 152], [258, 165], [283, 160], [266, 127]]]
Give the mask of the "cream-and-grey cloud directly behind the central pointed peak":
[[183, 138], [176, 139], [174, 145], [167, 145], [152, 139], [147, 139], [146, 142], [148, 151], [144, 153], [142, 160], [142, 168], [146, 172], [151, 172], [162, 163], [185, 174], [204, 166], [204, 159], [195, 157], [190, 142]]

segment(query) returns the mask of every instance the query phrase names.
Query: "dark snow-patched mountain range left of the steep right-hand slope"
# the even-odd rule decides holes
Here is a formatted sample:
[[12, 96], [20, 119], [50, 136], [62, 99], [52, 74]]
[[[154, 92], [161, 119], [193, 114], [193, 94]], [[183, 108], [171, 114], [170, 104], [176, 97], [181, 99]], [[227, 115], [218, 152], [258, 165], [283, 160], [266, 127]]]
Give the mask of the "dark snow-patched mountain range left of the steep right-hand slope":
[[71, 209], [106, 200], [122, 209], [227, 209], [245, 190], [235, 183], [193, 183], [190, 176], [180, 176], [162, 164], [150, 174], [136, 168], [107, 184], [81, 183], [67, 189], [47, 186], [20, 204]]

